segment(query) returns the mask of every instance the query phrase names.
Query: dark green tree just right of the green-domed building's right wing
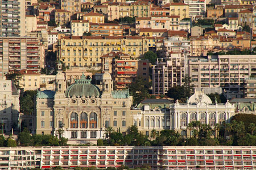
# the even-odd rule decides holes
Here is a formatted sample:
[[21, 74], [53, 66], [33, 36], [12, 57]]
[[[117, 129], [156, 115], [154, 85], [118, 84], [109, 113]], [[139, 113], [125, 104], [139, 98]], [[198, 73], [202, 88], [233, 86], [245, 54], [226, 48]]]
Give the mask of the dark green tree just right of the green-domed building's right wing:
[[150, 85], [141, 77], [137, 77], [135, 83], [129, 84], [128, 89], [130, 92], [130, 96], [133, 96], [133, 103], [138, 105], [143, 99], [148, 98], [149, 88]]

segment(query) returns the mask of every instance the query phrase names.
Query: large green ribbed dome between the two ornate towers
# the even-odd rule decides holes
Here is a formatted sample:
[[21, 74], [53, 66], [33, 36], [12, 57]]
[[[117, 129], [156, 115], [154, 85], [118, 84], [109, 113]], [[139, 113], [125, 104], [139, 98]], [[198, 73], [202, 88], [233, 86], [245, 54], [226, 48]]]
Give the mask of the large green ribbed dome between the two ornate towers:
[[83, 73], [80, 80], [75, 80], [75, 84], [68, 87], [65, 96], [101, 96], [100, 89], [96, 85], [91, 84], [90, 81], [92, 81], [92, 79], [86, 79]]

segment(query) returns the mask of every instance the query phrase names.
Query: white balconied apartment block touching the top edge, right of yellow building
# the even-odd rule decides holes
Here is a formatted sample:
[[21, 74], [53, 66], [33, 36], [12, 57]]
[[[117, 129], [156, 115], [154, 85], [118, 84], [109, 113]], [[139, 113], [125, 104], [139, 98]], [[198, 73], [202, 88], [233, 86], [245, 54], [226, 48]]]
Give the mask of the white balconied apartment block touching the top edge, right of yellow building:
[[206, 1], [205, 0], [185, 0], [185, 4], [189, 5], [189, 16], [205, 15]]

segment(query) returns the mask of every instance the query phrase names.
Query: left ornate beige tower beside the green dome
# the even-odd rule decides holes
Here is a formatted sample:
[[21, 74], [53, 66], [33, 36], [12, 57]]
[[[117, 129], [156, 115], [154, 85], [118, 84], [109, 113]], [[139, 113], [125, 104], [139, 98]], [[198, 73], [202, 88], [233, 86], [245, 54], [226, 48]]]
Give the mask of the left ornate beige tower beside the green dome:
[[56, 74], [55, 91], [56, 91], [56, 94], [60, 94], [63, 96], [66, 90], [66, 82], [65, 82], [65, 76], [61, 70], [62, 64], [60, 63], [60, 61], [58, 61], [57, 67], [58, 67], [58, 70]]

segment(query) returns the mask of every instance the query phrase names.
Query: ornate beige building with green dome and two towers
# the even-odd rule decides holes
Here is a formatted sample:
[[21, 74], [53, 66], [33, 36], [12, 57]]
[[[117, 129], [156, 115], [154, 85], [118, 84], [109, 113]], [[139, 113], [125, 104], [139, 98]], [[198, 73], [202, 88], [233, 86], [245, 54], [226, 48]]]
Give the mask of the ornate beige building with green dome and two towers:
[[[61, 64], [56, 75], [56, 89], [39, 91], [36, 98], [36, 134], [55, 134], [59, 128], [69, 143], [104, 138], [109, 126], [123, 135], [131, 122], [133, 98], [126, 90], [114, 91], [109, 73], [104, 73], [98, 88], [84, 75], [66, 89]], [[86, 90], [83, 90], [86, 89]], [[94, 141], [95, 142], [95, 141]]]

